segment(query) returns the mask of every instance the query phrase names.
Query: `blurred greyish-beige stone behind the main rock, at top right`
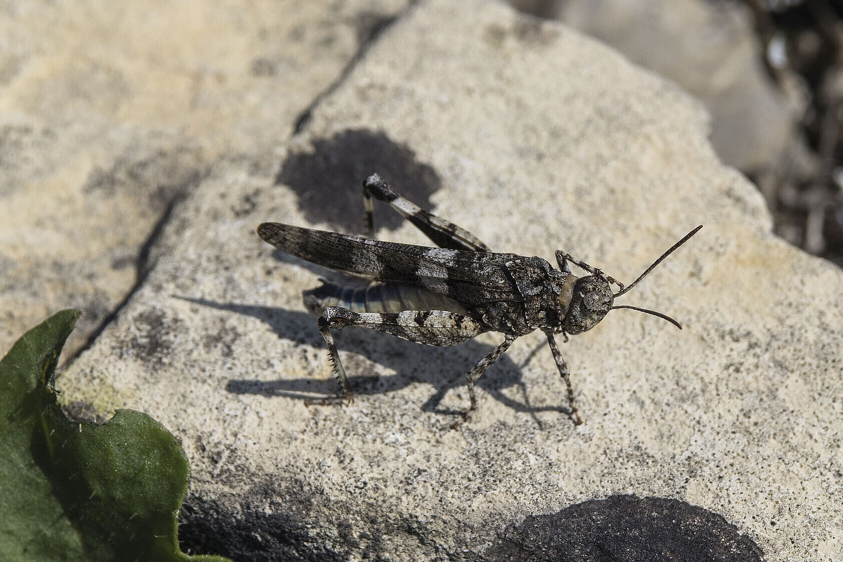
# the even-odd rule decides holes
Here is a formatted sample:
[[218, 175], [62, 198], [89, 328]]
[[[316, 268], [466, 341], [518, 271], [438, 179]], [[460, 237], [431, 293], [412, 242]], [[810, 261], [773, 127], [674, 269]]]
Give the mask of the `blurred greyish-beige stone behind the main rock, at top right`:
[[[746, 172], [775, 168], [791, 147], [796, 99], [763, 63], [743, 3], [706, 0], [567, 0], [556, 17], [604, 40], [632, 62], [674, 80], [711, 112], [711, 144]], [[788, 160], [789, 162], [789, 160]]]

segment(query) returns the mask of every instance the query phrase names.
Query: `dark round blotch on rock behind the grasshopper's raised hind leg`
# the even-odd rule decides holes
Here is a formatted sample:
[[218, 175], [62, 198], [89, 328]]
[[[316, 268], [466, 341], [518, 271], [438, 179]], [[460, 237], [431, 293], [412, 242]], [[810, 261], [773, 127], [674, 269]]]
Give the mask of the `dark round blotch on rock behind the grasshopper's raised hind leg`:
[[[316, 139], [312, 152], [290, 154], [276, 183], [296, 192], [298, 206], [309, 222], [365, 233], [362, 181], [374, 172], [423, 209], [430, 209], [430, 196], [442, 186], [436, 170], [416, 161], [410, 147], [366, 129]], [[375, 201], [374, 214], [376, 228], [395, 229], [404, 220], [381, 201]]]

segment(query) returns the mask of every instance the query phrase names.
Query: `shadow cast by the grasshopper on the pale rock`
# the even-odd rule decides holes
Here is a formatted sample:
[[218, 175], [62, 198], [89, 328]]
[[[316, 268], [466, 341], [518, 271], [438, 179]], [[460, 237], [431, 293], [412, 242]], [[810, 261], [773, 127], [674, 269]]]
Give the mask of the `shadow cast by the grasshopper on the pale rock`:
[[[287, 308], [214, 302], [203, 298], [178, 297], [175, 295], [174, 297], [201, 306], [258, 318], [266, 323], [279, 338], [325, 351], [325, 362], [328, 362], [325, 342], [322, 340], [319, 330], [316, 329], [316, 318], [310, 314]], [[354, 327], [337, 330], [334, 332], [334, 337], [354, 393], [358, 395], [386, 393], [405, 388], [412, 383], [428, 383], [437, 390], [430, 399], [422, 404], [421, 409], [444, 415], [461, 415], [464, 413], [462, 409], [441, 409], [439, 404], [441, 404], [448, 390], [464, 388], [465, 373], [469, 372], [471, 367], [474, 367], [475, 363], [480, 361], [481, 357], [486, 356], [494, 349], [492, 345], [481, 344], [474, 340], [454, 347], [421, 345], [375, 330]], [[526, 365], [534, 354], [543, 347], [545, 345], [536, 347], [529, 354], [524, 364]], [[457, 348], [461, 349], [458, 350]], [[368, 369], [367, 360], [387, 367], [395, 371], [396, 374], [392, 377], [361, 374]], [[431, 367], [432, 365], [442, 365], [443, 367], [439, 369]], [[556, 375], [555, 372], [553, 374]], [[482, 388], [493, 398], [518, 412], [530, 414], [539, 411], [568, 413], [567, 409], [561, 406], [539, 408], [531, 406], [521, 377], [521, 368], [506, 355], [489, 367], [489, 370], [477, 380], [475, 386]], [[502, 392], [504, 388], [513, 386], [518, 386], [521, 389], [524, 402], [513, 400]], [[284, 396], [304, 400], [314, 399], [314, 393], [322, 393], [325, 396], [334, 395], [336, 393], [336, 379], [330, 378], [319, 381], [312, 378], [293, 380], [279, 378], [271, 382], [254, 379], [232, 379], [226, 384], [226, 390], [235, 394], [260, 394], [267, 397]], [[468, 393], [462, 392], [462, 394], [464, 394], [467, 408]], [[560, 388], [560, 398], [563, 398], [562, 388]]]

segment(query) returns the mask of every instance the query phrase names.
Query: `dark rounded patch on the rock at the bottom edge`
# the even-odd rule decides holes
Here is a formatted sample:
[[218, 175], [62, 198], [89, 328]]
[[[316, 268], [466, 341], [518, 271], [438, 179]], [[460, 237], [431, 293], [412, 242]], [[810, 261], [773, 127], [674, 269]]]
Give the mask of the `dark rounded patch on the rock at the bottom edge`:
[[667, 498], [612, 495], [508, 526], [491, 562], [763, 562], [749, 537], [717, 513]]

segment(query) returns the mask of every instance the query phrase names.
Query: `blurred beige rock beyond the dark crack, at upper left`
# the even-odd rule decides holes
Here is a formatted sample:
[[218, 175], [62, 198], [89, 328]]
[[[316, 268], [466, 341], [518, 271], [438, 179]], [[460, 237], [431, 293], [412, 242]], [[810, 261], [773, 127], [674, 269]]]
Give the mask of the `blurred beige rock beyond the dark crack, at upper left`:
[[0, 1], [0, 349], [75, 306], [78, 351], [208, 163], [273, 162], [406, 4]]

